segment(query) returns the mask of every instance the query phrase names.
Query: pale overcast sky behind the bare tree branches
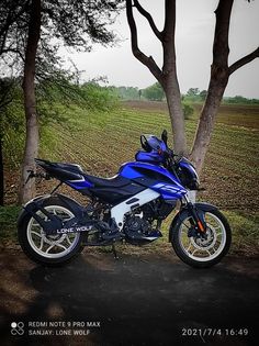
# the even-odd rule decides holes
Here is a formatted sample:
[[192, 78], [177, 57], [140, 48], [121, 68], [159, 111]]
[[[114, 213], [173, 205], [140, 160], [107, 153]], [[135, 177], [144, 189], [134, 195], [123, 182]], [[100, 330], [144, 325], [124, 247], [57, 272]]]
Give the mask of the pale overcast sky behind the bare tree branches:
[[[218, 0], [177, 1], [177, 65], [181, 92], [189, 88], [206, 89], [212, 63], [213, 31]], [[164, 0], [140, 0], [154, 16], [158, 29], [164, 23]], [[161, 66], [161, 48], [143, 18], [136, 15], [139, 47]], [[72, 54], [82, 77], [106, 76], [109, 85], [146, 88], [156, 80], [132, 54], [125, 11], [112, 26], [120, 43], [115, 47], [94, 45], [91, 53]], [[229, 63], [259, 45], [259, 1], [235, 0], [229, 33]], [[259, 98], [259, 58], [232, 75], [225, 96]]]

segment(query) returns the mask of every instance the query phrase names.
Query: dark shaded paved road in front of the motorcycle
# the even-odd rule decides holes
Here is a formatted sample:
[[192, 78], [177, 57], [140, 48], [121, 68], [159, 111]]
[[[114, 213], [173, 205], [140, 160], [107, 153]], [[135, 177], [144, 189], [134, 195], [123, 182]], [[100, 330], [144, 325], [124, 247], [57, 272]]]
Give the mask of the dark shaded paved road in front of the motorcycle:
[[49, 269], [9, 250], [0, 270], [1, 345], [256, 345], [255, 259], [198, 270], [169, 255], [83, 253]]

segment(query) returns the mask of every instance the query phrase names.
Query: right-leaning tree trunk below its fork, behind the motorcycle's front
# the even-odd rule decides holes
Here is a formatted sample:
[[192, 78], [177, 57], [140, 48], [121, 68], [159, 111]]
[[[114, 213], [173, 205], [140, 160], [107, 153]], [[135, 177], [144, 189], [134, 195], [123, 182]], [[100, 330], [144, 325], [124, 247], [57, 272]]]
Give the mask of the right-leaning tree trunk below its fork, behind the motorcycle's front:
[[206, 101], [201, 111], [200, 121], [196, 129], [195, 139], [190, 155], [191, 161], [194, 164], [198, 174], [201, 172], [207, 147], [211, 141], [216, 114], [227, 86], [227, 69], [218, 71], [218, 68], [212, 66], [212, 77], [209, 86]]

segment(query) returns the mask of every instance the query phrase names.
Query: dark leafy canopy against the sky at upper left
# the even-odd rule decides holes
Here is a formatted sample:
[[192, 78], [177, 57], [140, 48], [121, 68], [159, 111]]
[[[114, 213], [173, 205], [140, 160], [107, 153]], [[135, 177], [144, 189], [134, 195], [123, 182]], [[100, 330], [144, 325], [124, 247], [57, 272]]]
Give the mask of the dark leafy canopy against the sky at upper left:
[[[5, 75], [20, 74], [24, 63], [31, 3], [34, 0], [0, 2], [0, 64]], [[37, 49], [37, 76], [49, 66], [60, 66], [57, 52], [63, 44], [90, 51], [93, 43], [115, 41], [109, 30], [121, 9], [122, 0], [42, 0], [41, 38]], [[52, 70], [52, 68], [50, 68]]]

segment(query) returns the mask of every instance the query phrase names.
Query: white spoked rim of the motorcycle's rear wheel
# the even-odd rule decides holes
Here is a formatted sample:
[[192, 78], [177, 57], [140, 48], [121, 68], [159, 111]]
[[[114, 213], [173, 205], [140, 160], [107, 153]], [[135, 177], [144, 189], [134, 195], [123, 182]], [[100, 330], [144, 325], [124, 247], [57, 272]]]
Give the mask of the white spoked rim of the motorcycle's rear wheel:
[[[60, 205], [47, 205], [48, 212], [57, 214], [63, 220], [69, 220], [75, 215]], [[37, 212], [43, 217], [41, 211]], [[45, 219], [47, 219], [45, 216]], [[65, 257], [78, 243], [79, 233], [47, 236], [35, 219], [31, 219], [26, 230], [27, 241], [32, 249], [45, 258]]]

